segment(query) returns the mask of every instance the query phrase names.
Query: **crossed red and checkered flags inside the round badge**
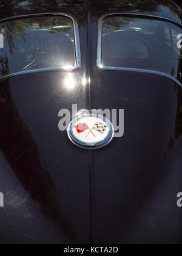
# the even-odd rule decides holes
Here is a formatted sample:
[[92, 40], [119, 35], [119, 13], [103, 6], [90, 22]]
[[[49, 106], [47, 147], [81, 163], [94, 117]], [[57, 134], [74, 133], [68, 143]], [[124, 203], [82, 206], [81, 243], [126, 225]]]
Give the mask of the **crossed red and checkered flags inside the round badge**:
[[96, 130], [97, 132], [104, 134], [107, 127], [108, 126], [106, 124], [102, 124], [102, 123], [99, 123], [99, 122], [96, 122], [94, 124], [94, 126], [92, 127], [92, 129], [90, 129], [89, 126], [87, 126], [86, 123], [79, 123], [78, 125], [74, 126], [74, 128], [76, 129], [76, 131], [78, 133], [82, 133], [86, 130], [89, 130], [89, 133], [87, 134], [86, 138], [89, 136], [90, 133], [92, 133], [92, 135], [96, 138], [95, 133], [93, 133], [93, 130]]

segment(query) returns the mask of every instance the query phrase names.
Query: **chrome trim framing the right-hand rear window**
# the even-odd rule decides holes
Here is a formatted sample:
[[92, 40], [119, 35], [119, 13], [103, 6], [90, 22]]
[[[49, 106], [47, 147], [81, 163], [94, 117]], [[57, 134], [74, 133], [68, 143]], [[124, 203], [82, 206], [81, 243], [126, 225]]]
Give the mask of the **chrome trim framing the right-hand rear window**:
[[173, 80], [175, 83], [180, 85], [182, 87], [181, 82], [176, 79], [175, 77], [171, 76], [170, 74], [163, 73], [160, 71], [150, 70], [150, 69], [140, 69], [140, 68], [122, 68], [122, 67], [115, 67], [115, 66], [103, 66], [102, 63], [102, 42], [103, 42], [103, 21], [106, 18], [112, 17], [112, 16], [134, 16], [137, 18], [146, 18], [146, 19], [152, 19], [152, 20], [162, 20], [167, 21], [170, 23], [174, 23], [178, 27], [182, 29], [182, 24], [178, 23], [177, 21], [170, 20], [169, 18], [164, 18], [160, 16], [151, 16], [151, 15], [145, 15], [145, 14], [138, 14], [138, 13], [111, 13], [109, 15], [104, 15], [101, 17], [98, 21], [98, 46], [97, 46], [97, 60], [96, 60], [96, 66], [99, 69], [108, 70], [108, 71], [128, 71], [128, 72], [139, 72], [139, 73], [146, 73], [146, 74], [155, 74], [158, 76], [167, 77], [170, 80]]

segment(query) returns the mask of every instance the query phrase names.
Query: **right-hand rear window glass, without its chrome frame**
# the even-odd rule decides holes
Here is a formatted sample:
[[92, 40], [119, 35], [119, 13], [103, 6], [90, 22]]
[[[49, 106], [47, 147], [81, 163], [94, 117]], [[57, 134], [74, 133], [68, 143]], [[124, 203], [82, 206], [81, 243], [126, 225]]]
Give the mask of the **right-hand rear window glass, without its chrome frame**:
[[102, 65], [160, 71], [181, 80], [180, 27], [160, 20], [112, 16], [103, 21]]

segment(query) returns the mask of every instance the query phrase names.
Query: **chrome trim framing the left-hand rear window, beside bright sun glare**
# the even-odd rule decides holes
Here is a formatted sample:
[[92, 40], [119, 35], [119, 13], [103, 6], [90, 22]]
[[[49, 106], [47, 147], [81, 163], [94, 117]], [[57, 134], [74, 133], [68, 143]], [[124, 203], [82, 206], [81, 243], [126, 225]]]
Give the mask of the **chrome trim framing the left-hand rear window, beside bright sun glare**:
[[73, 22], [73, 34], [75, 37], [75, 66], [72, 68], [41, 68], [41, 69], [32, 69], [27, 71], [18, 71], [16, 73], [8, 74], [7, 76], [1, 77], [0, 82], [9, 79], [11, 77], [15, 76], [21, 76], [24, 74], [32, 74], [32, 73], [43, 73], [43, 72], [52, 72], [52, 71], [73, 71], [76, 69], [81, 68], [81, 48], [80, 48], [80, 41], [79, 41], [79, 29], [78, 29], [78, 23], [72, 16], [66, 14], [66, 13], [38, 13], [38, 14], [30, 14], [30, 15], [19, 15], [19, 16], [12, 16], [10, 18], [5, 18], [3, 20], [0, 20], [1, 23], [5, 23], [7, 21], [11, 20], [20, 20], [25, 18], [33, 18], [33, 17], [44, 17], [44, 16], [64, 16], [67, 18], [70, 18]]

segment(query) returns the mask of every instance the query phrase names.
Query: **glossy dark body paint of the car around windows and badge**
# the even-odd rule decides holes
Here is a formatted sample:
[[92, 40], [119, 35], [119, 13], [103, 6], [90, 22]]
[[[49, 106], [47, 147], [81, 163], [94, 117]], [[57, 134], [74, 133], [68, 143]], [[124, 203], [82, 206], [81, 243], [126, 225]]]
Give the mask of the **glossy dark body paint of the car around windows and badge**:
[[[181, 88], [166, 77], [96, 67], [101, 16], [138, 12], [181, 23], [175, 4], [15, 2], [2, 2], [2, 18], [59, 10], [74, 16], [82, 67], [69, 73], [73, 88], [68, 72], [1, 82], [0, 243], [181, 243]], [[59, 110], [72, 104], [124, 109], [124, 136], [95, 152], [77, 148], [58, 129]]]

